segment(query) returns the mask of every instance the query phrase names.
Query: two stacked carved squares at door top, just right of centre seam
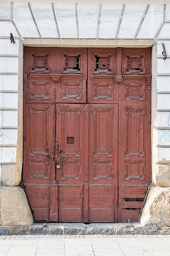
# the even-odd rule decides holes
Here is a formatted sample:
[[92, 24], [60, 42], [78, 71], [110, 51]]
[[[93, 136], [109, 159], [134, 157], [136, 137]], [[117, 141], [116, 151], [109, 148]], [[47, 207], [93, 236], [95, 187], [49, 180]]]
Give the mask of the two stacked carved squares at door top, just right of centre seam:
[[117, 103], [115, 48], [88, 49], [88, 102]]

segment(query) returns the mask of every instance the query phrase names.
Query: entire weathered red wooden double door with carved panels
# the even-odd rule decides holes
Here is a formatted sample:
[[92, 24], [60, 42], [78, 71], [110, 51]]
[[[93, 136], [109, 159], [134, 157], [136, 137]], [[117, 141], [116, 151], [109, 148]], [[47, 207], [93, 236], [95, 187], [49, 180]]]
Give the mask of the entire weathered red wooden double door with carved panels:
[[35, 220], [138, 220], [150, 93], [149, 48], [25, 48], [23, 183]]

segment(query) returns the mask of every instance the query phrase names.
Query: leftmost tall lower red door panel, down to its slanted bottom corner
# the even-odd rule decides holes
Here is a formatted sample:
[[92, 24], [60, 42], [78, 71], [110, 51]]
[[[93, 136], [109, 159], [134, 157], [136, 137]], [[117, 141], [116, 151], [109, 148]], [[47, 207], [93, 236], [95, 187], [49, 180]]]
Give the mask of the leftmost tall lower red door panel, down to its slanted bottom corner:
[[53, 102], [26, 102], [24, 112], [23, 181], [35, 219], [48, 220], [55, 108]]

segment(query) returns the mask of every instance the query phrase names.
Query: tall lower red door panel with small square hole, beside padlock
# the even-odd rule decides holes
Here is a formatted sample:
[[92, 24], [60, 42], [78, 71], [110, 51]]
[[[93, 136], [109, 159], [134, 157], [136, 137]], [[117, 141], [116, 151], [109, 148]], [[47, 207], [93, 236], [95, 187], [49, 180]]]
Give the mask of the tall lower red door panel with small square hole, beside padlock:
[[[57, 104], [56, 142], [59, 221], [81, 222], [84, 218], [84, 134], [86, 105]], [[88, 123], [88, 122], [87, 122]]]

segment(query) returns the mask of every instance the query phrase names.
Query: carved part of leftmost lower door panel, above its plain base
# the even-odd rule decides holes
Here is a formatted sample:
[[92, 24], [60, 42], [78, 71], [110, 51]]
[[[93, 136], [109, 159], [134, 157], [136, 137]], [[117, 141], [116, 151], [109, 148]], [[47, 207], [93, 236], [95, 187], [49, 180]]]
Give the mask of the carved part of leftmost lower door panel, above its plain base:
[[[26, 180], [46, 182], [50, 179], [54, 150], [54, 107], [50, 104], [26, 104]], [[50, 127], [49, 127], [50, 125]], [[50, 132], [49, 132], [50, 131]]]

